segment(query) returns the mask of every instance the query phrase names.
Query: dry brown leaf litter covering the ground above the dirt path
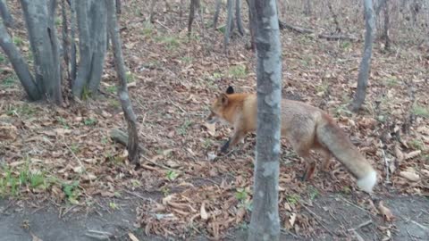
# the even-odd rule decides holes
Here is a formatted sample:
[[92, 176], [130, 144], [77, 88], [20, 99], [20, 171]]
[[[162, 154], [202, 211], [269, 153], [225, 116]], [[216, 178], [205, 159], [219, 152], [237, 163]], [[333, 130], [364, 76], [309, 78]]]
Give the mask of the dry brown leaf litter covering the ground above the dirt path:
[[[131, 3], [124, 8], [141, 6]], [[5, 169], [0, 178], [9, 178], [2, 195], [33, 202], [43, 197], [83, 209], [95, 196], [114, 198], [123, 190], [156, 193], [161, 197], [149, 197], [137, 210], [136, 225], [147, 234], [227, 237], [232, 227], [249, 221], [255, 135], [249, 135], [231, 154], [217, 156], [231, 129], [209, 125], [205, 119], [210, 101], [228, 85], [255, 90], [254, 53], [233, 39], [236, 43], [225, 56], [223, 37], [211, 29], [203, 36], [195, 27], [188, 39], [185, 21], [178, 21], [174, 14], [164, 18], [164, 26], [169, 28], [165, 29], [147, 24], [144, 16], [135, 16], [133, 11], [123, 12], [124, 54], [133, 77], [130, 96], [138, 113], [144, 155], [151, 162], [142, 158], [143, 168], [132, 170], [126, 150], [109, 137], [111, 129], [125, 129], [126, 124], [115, 93], [109, 92], [116, 81], [108, 54], [101, 86], [106, 94], [96, 100], [62, 108], [22, 101], [20, 86], [0, 92], [0, 161]], [[142, 34], [148, 31], [150, 35]], [[414, 49], [408, 52], [417, 57], [404, 54], [397, 58], [374, 47], [365, 110], [356, 115], [348, 111], [347, 104], [356, 90], [357, 56], [362, 46], [352, 44], [345, 51], [335, 45], [282, 32], [282, 47], [288, 49], [282, 56], [283, 96], [309, 102], [338, 120], [382, 174], [380, 181], [387, 185], [378, 185], [377, 193], [395, 188], [404, 194], [427, 196], [429, 120], [412, 111], [413, 106], [426, 106], [427, 110], [429, 104], [425, 72], [419, 71], [425, 69], [425, 59]], [[244, 73], [234, 76], [233, 66], [244, 66]], [[3, 67], [10, 68], [2, 63]], [[415, 97], [409, 95], [411, 89]], [[288, 146], [285, 141], [282, 145]], [[304, 169], [305, 163], [283, 147], [279, 177], [282, 227], [310, 236], [320, 224], [303, 212], [301, 201], [311, 203], [318, 192], [348, 194], [356, 187], [338, 162], [332, 163], [329, 177], [319, 172], [308, 183], [299, 180]], [[35, 173], [43, 185], [38, 184]], [[11, 177], [27, 174], [26, 182], [13, 186]], [[13, 193], [14, 188], [20, 189], [19, 194]], [[394, 219], [383, 201], [373, 209], [387, 221]], [[391, 228], [380, 229], [386, 238], [391, 237]], [[130, 238], [134, 238], [131, 233]]]

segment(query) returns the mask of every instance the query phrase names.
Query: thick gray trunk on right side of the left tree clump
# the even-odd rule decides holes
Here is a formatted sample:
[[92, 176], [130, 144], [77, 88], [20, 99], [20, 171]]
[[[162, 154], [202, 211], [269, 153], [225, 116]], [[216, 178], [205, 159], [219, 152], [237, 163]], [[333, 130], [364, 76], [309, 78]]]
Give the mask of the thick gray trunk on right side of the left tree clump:
[[84, 88], [97, 94], [106, 51], [107, 13], [105, 1], [76, 0], [80, 38], [80, 62], [72, 92], [81, 97]]

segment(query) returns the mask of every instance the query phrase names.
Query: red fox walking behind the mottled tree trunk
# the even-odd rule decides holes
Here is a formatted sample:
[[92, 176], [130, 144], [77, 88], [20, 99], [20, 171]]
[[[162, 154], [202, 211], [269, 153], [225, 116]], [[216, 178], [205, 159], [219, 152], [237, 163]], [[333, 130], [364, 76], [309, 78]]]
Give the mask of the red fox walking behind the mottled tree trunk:
[[[256, 94], [234, 93], [234, 89], [228, 87], [225, 94], [217, 96], [210, 111], [209, 123], [226, 121], [234, 128], [232, 136], [221, 148], [222, 153], [257, 129]], [[372, 193], [377, 181], [376, 171], [332, 117], [314, 106], [287, 99], [282, 99], [281, 114], [282, 137], [286, 137], [293, 149], [307, 161], [302, 179], [310, 179], [315, 171], [315, 161], [310, 155], [310, 150], [314, 149], [324, 158], [323, 170], [329, 168], [333, 155], [357, 179], [357, 187]]]

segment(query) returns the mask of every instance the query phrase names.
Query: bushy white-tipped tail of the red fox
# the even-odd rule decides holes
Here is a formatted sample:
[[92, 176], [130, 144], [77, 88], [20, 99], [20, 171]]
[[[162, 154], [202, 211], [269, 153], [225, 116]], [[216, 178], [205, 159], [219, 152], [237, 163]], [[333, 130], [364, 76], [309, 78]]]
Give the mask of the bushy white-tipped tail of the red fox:
[[377, 182], [377, 172], [357, 151], [349, 137], [329, 116], [316, 127], [316, 137], [357, 179], [357, 187], [371, 193]]

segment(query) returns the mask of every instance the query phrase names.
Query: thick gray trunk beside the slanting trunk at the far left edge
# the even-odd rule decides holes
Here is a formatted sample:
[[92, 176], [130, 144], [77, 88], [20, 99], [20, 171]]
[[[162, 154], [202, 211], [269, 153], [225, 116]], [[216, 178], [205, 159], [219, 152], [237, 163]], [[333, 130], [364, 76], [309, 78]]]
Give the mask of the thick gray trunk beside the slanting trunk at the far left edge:
[[34, 56], [36, 83], [46, 98], [56, 104], [63, 102], [61, 64], [55, 29], [55, 0], [21, 0]]

